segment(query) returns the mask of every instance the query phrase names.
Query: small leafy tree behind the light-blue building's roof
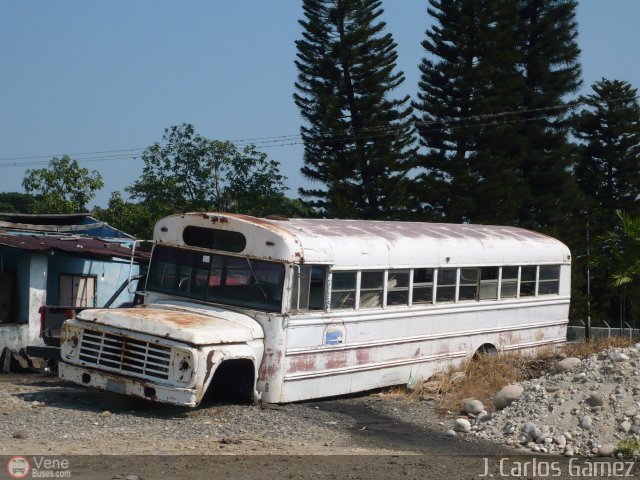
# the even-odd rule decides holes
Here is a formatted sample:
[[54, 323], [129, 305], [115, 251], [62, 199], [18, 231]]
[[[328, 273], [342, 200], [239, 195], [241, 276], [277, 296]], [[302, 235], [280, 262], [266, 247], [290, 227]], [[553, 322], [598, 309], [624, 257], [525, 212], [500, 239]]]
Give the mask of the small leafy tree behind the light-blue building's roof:
[[22, 180], [26, 192], [35, 197], [31, 213], [85, 212], [103, 185], [100, 173], [81, 168], [68, 155], [52, 158], [47, 168], [27, 170]]

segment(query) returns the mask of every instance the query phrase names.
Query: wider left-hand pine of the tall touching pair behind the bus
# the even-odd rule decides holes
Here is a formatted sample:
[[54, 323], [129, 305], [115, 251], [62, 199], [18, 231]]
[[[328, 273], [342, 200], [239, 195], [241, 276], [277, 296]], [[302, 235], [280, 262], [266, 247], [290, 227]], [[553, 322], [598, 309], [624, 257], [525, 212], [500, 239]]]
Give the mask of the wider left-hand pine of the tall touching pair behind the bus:
[[516, 0], [430, 0], [436, 20], [422, 43], [418, 130], [427, 148], [423, 216], [517, 223], [521, 151], [508, 118], [520, 104], [522, 32]]

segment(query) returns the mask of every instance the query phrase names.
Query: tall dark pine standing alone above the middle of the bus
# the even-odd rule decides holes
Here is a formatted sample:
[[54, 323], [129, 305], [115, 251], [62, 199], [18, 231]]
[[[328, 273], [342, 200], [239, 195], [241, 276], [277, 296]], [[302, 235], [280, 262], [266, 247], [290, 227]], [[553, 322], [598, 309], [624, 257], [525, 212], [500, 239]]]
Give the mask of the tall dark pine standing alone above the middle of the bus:
[[406, 215], [417, 147], [409, 98], [392, 98], [404, 74], [381, 3], [303, 1], [294, 100], [305, 120], [302, 173], [320, 187], [300, 194], [323, 215]]

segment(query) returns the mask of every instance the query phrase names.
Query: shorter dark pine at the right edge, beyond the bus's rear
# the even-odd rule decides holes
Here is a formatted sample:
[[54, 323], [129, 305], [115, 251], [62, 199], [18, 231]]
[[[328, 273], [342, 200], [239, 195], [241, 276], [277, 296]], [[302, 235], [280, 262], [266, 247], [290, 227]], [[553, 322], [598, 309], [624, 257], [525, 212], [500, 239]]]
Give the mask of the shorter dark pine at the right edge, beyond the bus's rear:
[[[598, 292], [591, 309], [594, 317], [609, 318], [611, 323], [619, 316], [621, 302], [629, 303], [632, 296], [625, 302], [623, 290], [611, 286], [609, 279], [615, 265], [624, 263], [623, 257], [619, 258], [620, 252], [612, 255], [613, 249], [600, 243], [603, 237], [620, 233], [616, 211], [640, 215], [640, 106], [637, 90], [627, 82], [602, 79], [592, 89], [593, 94], [581, 97], [584, 108], [574, 118], [573, 133], [579, 140], [574, 172], [588, 211], [582, 223], [588, 219], [591, 251], [599, 252], [600, 258], [598, 268], [591, 269], [592, 290]], [[575, 269], [585, 271], [588, 260], [578, 257]]]

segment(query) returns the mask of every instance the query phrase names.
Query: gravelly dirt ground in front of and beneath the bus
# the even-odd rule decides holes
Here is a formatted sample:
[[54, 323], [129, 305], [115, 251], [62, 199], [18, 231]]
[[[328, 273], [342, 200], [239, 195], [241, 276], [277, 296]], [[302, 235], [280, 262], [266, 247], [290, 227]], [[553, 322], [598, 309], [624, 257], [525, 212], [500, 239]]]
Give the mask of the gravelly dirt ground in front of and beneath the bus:
[[[432, 402], [390, 392], [185, 409], [53, 376], [0, 375], [2, 463], [24, 456], [39, 475], [58, 478], [64, 471], [67, 478], [122, 480], [482, 478], [500, 476], [501, 459], [522, 455], [472, 436], [447, 436], [451, 422]], [[55, 468], [43, 473], [43, 459]], [[5, 472], [0, 467], [0, 478], [11, 478]]]

